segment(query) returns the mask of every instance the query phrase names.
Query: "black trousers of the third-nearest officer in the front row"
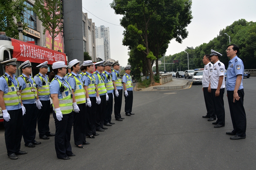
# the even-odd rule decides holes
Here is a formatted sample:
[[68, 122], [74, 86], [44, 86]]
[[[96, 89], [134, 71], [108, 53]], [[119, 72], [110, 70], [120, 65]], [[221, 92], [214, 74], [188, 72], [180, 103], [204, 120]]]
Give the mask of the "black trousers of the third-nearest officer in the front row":
[[90, 97], [92, 106], [86, 106], [86, 136], [92, 136], [96, 133], [95, 115], [96, 115], [96, 97]]

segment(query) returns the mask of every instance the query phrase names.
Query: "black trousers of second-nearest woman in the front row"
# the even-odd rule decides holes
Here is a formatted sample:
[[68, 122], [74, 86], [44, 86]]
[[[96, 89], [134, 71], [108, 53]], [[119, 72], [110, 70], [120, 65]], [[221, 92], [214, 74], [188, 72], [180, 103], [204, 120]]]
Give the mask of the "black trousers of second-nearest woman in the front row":
[[73, 112], [74, 115], [74, 141], [75, 145], [83, 145], [86, 142], [86, 103], [78, 104], [79, 113]]

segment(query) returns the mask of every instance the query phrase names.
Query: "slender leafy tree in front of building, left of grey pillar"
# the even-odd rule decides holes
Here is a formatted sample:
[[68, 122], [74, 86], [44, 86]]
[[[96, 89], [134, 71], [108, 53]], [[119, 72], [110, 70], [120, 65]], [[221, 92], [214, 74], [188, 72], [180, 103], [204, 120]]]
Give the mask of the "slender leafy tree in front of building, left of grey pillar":
[[49, 31], [52, 36], [52, 50], [54, 50], [54, 38], [61, 32], [60, 0], [35, 0], [32, 10], [42, 22], [44, 34]]

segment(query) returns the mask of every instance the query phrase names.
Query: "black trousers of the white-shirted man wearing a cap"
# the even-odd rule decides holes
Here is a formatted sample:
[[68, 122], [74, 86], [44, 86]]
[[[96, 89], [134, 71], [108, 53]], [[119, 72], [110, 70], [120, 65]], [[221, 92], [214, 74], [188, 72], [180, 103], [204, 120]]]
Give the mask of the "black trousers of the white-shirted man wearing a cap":
[[217, 89], [212, 89], [212, 97], [214, 103], [214, 110], [217, 116], [217, 123], [220, 125], [225, 125], [225, 109], [224, 109], [224, 100], [223, 95], [225, 88], [220, 89], [220, 96], [216, 97], [215, 92]]

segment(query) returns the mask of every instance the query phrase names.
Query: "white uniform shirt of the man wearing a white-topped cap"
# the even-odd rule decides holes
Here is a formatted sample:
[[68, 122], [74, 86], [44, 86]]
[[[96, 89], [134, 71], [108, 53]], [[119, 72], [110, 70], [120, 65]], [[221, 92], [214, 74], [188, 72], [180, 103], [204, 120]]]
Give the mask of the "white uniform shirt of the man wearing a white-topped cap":
[[211, 89], [217, 89], [220, 76], [223, 75], [223, 81], [220, 89], [225, 88], [225, 66], [222, 62], [217, 61], [213, 64], [211, 73]]

